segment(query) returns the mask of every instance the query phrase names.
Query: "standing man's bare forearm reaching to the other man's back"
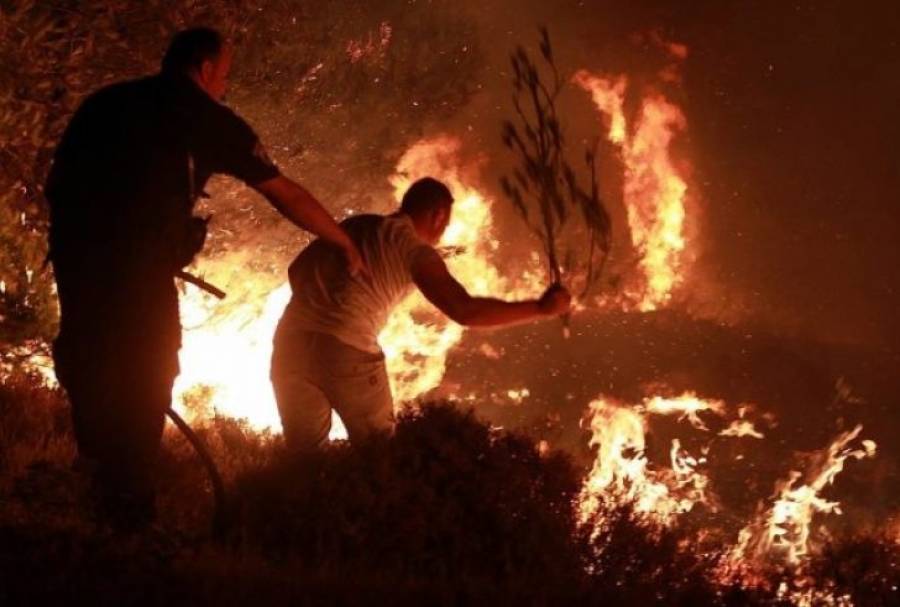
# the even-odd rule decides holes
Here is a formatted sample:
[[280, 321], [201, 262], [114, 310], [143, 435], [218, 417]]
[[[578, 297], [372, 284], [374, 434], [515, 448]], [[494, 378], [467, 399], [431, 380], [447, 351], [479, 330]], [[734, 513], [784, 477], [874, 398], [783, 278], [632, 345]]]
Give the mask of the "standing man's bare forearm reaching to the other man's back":
[[316, 198], [297, 182], [279, 175], [253, 186], [295, 225], [339, 246], [347, 258], [350, 274], [365, 272], [359, 250]]

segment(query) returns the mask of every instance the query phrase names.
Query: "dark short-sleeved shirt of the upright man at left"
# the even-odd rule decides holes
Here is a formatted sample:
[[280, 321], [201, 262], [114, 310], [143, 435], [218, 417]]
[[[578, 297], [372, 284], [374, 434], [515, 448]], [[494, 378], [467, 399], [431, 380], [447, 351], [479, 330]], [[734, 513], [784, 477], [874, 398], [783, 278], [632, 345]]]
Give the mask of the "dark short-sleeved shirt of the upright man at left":
[[279, 174], [247, 123], [187, 77], [101, 89], [73, 116], [47, 181], [54, 260], [159, 255], [213, 173], [250, 185]]

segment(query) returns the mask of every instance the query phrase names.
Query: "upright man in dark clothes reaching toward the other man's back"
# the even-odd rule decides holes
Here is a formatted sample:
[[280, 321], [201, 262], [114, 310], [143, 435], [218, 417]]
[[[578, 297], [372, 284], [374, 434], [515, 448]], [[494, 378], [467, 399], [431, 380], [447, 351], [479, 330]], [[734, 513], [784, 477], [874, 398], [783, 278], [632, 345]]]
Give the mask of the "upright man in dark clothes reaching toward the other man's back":
[[98, 504], [114, 522], [153, 515], [153, 468], [181, 345], [174, 276], [202, 247], [191, 212], [207, 179], [241, 179], [335, 244], [352, 271], [362, 268], [343, 229], [219, 103], [231, 53], [214, 30], [177, 34], [159, 74], [106, 87], [81, 105], [47, 181], [61, 313], [55, 368], [79, 455], [94, 464]]

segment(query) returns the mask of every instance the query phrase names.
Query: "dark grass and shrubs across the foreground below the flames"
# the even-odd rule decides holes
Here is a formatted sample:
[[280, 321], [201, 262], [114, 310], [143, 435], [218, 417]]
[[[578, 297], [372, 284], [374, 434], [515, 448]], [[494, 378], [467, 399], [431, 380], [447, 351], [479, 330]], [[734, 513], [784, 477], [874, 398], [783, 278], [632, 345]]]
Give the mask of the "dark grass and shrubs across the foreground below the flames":
[[[396, 435], [293, 460], [232, 419], [199, 429], [226, 479], [231, 525], [210, 535], [211, 488], [168, 432], [159, 522], [95, 520], [73, 467], [65, 399], [38, 378], [0, 387], [0, 602], [102, 604], [769, 605], [770, 590], [711, 582], [715, 542], [647, 528], [628, 508], [581, 526], [584, 470], [452, 404], [405, 414]], [[719, 544], [722, 549], [725, 544]], [[834, 594], [888, 604], [896, 544], [836, 543], [811, 565]], [[774, 575], [774, 574], [773, 574]]]

